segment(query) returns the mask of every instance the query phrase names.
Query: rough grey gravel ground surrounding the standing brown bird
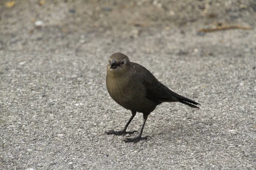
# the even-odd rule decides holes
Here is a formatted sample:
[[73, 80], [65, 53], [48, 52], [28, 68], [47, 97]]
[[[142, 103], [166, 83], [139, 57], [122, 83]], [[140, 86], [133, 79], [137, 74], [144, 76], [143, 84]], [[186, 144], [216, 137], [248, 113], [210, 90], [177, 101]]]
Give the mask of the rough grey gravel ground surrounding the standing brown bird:
[[[215, 23], [254, 28], [253, 0], [6, 2], [1, 170], [256, 169], [256, 30], [197, 32]], [[143, 132], [151, 138], [135, 144], [105, 135], [131, 116], [105, 86], [115, 52], [201, 109], [159, 105]], [[142, 123], [138, 113], [128, 130]]]

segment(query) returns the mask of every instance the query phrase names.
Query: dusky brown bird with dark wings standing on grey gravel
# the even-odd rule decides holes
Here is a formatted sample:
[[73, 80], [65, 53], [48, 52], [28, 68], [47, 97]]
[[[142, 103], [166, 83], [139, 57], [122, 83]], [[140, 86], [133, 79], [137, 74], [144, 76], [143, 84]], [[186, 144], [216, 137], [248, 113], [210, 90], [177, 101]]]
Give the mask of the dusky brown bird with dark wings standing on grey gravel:
[[126, 130], [136, 113], [143, 113], [144, 121], [140, 133], [135, 138], [125, 138], [124, 142], [139, 142], [150, 137], [142, 136], [145, 122], [148, 115], [163, 102], [180, 102], [191, 108], [198, 108], [196, 105], [200, 105], [198, 102], [171, 91], [145, 67], [130, 62], [129, 58], [122, 53], [114, 53], [109, 58], [106, 86], [111, 98], [123, 108], [131, 111], [131, 118], [122, 130], [110, 130], [105, 133], [114, 135], [139, 133], [136, 130]]

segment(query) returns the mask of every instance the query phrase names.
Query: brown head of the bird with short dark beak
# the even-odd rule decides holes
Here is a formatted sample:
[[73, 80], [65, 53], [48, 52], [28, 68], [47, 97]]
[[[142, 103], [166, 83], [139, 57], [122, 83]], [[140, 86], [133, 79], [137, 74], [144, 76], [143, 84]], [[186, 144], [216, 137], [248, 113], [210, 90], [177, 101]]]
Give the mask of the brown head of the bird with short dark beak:
[[129, 70], [130, 60], [125, 54], [115, 53], [110, 56], [107, 67], [109, 72], [123, 74]]

